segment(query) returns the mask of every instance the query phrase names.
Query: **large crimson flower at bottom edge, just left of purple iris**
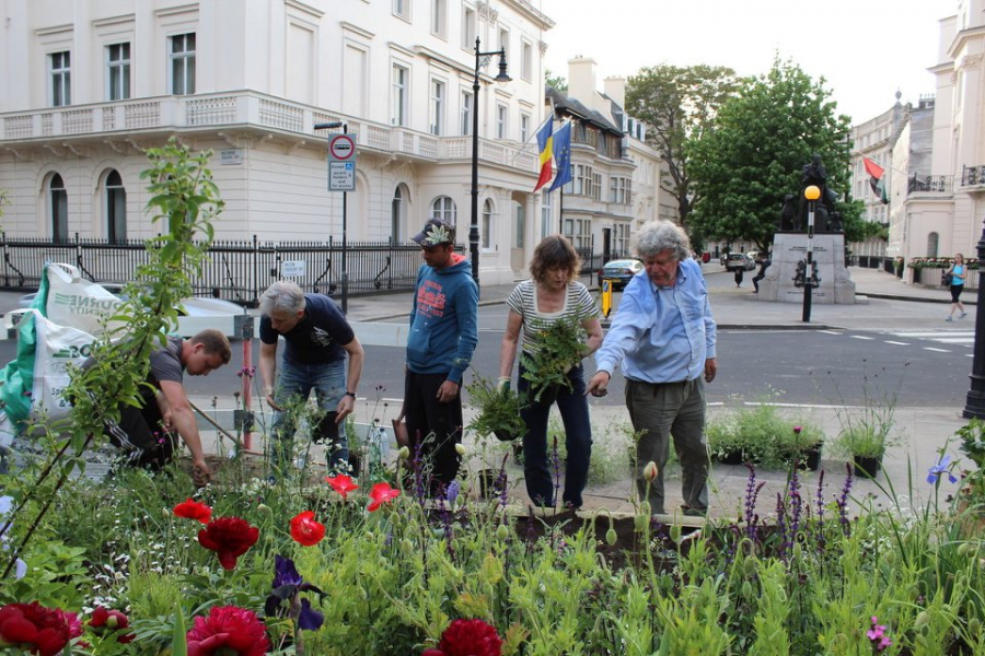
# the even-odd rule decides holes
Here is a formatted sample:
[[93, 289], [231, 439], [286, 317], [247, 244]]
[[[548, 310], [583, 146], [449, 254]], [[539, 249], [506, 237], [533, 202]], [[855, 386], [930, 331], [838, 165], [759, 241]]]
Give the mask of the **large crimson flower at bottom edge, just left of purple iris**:
[[263, 656], [270, 649], [264, 623], [236, 606], [212, 607], [209, 617], [195, 618], [187, 637], [188, 656]]

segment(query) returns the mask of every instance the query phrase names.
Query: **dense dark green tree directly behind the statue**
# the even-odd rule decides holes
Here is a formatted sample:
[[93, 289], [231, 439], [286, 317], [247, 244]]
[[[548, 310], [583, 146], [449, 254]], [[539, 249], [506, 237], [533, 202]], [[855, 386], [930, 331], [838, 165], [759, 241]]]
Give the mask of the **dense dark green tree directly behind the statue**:
[[[798, 195], [803, 165], [821, 155], [828, 188], [848, 189], [849, 118], [836, 114], [823, 78], [813, 81], [791, 61], [774, 60], [748, 79], [720, 108], [715, 126], [693, 143], [691, 174], [702, 189], [692, 223], [717, 239], [749, 239], [765, 250], [784, 196]], [[835, 204], [849, 242], [870, 227], [858, 201]]]

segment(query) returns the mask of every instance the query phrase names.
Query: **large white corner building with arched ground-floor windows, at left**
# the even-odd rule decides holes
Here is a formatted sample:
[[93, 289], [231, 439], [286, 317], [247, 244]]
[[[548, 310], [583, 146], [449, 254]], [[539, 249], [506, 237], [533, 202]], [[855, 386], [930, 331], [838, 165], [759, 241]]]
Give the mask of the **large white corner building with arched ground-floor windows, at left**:
[[[538, 209], [544, 34], [526, 0], [8, 0], [0, 42], [0, 189], [9, 236], [144, 238], [144, 151], [212, 149], [217, 238], [327, 241], [329, 134], [357, 143], [351, 242], [405, 243], [432, 215], [471, 224], [478, 113], [484, 282], [514, 278]], [[473, 91], [476, 37], [512, 81]], [[524, 145], [525, 144], [525, 145]]]

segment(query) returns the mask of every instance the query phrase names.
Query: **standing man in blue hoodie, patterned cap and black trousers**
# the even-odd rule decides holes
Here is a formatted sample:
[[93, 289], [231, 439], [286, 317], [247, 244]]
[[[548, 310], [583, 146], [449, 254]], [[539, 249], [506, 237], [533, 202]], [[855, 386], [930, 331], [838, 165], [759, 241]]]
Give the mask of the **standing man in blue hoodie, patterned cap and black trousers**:
[[472, 263], [454, 251], [455, 229], [431, 219], [413, 237], [425, 263], [417, 272], [407, 339], [404, 417], [412, 447], [420, 444], [431, 493], [459, 473], [462, 374], [478, 342], [478, 286]]

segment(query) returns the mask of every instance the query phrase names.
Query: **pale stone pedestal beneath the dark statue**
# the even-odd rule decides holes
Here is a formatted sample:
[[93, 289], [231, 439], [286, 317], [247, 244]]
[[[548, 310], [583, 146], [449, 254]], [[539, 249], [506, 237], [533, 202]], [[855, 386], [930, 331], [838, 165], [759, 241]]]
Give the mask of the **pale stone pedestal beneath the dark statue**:
[[776, 233], [773, 263], [760, 281], [758, 300], [803, 303], [803, 288], [793, 286], [793, 277], [809, 247], [821, 278], [821, 285], [811, 291], [811, 303], [855, 304], [855, 282], [845, 267], [845, 235], [841, 233], [815, 234], [810, 239], [807, 233]]

